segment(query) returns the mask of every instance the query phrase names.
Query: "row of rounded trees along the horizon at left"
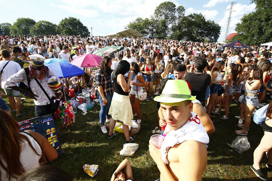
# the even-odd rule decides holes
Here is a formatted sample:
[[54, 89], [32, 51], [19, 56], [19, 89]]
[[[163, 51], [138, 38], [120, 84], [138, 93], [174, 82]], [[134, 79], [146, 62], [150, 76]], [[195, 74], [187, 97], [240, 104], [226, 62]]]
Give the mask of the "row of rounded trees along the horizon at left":
[[88, 28], [75, 17], [64, 18], [60, 23], [54, 24], [49, 21], [35, 22], [31, 18], [18, 18], [13, 25], [10, 23], [0, 24], [0, 33], [5, 35], [81, 35], [86, 37], [90, 34]]

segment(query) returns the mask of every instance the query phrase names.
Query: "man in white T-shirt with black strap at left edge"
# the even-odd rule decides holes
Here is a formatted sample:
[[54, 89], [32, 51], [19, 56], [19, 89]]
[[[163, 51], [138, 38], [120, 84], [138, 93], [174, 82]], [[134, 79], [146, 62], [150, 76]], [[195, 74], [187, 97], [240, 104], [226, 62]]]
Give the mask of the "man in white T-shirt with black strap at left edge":
[[3, 58], [3, 60], [0, 61], [0, 71], [1, 71], [0, 73], [2, 73], [1, 87], [2, 87], [2, 89], [5, 90], [5, 93], [8, 96], [8, 101], [12, 107], [12, 111], [16, 112], [16, 117], [20, 117], [20, 116], [24, 115], [23, 113], [20, 113], [20, 110], [21, 110], [20, 91], [13, 90], [11, 88], [7, 88], [5, 86], [5, 81], [11, 75], [14, 75], [18, 71], [20, 71], [22, 68], [17, 62], [10, 61], [9, 51], [1, 50], [0, 54], [1, 54], [1, 57]]

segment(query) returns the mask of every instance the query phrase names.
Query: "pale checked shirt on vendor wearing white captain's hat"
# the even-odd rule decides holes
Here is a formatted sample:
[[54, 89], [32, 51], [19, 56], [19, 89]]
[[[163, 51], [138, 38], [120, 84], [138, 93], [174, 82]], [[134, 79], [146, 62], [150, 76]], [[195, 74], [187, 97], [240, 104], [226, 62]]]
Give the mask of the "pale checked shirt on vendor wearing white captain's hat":
[[[48, 68], [48, 72], [49, 72], [48, 77], [55, 76], [57, 80], [62, 83], [60, 78], [50, 68]], [[17, 86], [16, 83], [19, 83], [19, 82], [24, 82], [24, 84], [28, 85], [28, 79], [24, 69], [21, 69], [20, 71], [18, 71], [17, 74], [11, 75], [10, 78], [6, 80], [5, 86], [6, 87]], [[53, 90], [49, 87], [47, 81], [40, 82], [40, 84], [42, 87], [44, 87], [44, 90], [47, 92], [49, 97], [55, 96], [55, 94], [53, 93]], [[40, 86], [37, 84], [35, 79], [30, 80], [30, 88], [34, 94], [39, 96], [39, 97], [36, 97], [37, 100], [33, 100], [35, 105], [42, 106], [42, 105], [50, 104], [50, 100], [48, 100], [48, 98], [44, 94], [44, 91], [40, 88]]]

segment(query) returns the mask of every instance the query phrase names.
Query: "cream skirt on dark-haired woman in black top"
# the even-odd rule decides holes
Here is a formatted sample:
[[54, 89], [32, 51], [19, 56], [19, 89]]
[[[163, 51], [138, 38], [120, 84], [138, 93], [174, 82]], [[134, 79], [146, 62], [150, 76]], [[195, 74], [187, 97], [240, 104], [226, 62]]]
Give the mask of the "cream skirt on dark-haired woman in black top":
[[131, 126], [133, 113], [129, 96], [120, 95], [114, 92], [108, 114], [112, 116], [112, 119], [119, 120], [125, 125]]

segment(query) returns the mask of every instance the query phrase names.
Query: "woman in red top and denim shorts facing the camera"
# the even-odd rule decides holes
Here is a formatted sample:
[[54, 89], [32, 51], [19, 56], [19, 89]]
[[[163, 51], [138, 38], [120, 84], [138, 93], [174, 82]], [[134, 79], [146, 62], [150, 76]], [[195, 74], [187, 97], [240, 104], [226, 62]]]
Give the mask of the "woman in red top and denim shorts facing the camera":
[[144, 90], [147, 92], [147, 87], [149, 88], [149, 92], [148, 92], [148, 97], [145, 100], [149, 100], [149, 98], [154, 98], [151, 96], [152, 94], [152, 89], [153, 89], [153, 79], [151, 77], [152, 74], [152, 65], [151, 65], [151, 58], [147, 57], [146, 58], [146, 64], [143, 65], [141, 67], [141, 73], [144, 74], [144, 81], [145, 81], [145, 86], [144, 86]]

